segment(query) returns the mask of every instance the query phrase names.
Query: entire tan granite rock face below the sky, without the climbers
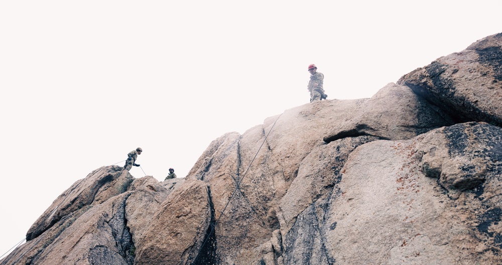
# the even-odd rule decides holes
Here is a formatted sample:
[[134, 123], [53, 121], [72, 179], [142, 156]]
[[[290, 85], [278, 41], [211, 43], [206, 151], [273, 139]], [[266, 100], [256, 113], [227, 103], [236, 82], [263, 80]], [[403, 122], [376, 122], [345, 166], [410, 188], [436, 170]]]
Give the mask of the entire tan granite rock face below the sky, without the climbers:
[[229, 132], [185, 178], [97, 169], [0, 264], [500, 264], [501, 39]]

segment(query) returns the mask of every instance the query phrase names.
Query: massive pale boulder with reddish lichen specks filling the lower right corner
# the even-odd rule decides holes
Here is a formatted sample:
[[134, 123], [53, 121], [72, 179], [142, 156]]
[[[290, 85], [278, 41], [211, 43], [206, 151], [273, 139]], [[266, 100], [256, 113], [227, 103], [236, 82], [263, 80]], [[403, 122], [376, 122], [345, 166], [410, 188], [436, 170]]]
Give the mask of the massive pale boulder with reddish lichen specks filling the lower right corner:
[[[502, 262], [501, 139], [499, 127], [465, 123], [409, 141], [375, 141], [357, 148], [319, 222], [328, 259], [340, 264]], [[451, 190], [423, 174], [436, 144], [442, 154], [438, 159], [454, 164], [441, 177], [452, 168], [466, 176], [481, 167], [484, 182], [465, 180], [472, 182], [469, 188], [462, 186], [457, 199], [449, 196]]]

